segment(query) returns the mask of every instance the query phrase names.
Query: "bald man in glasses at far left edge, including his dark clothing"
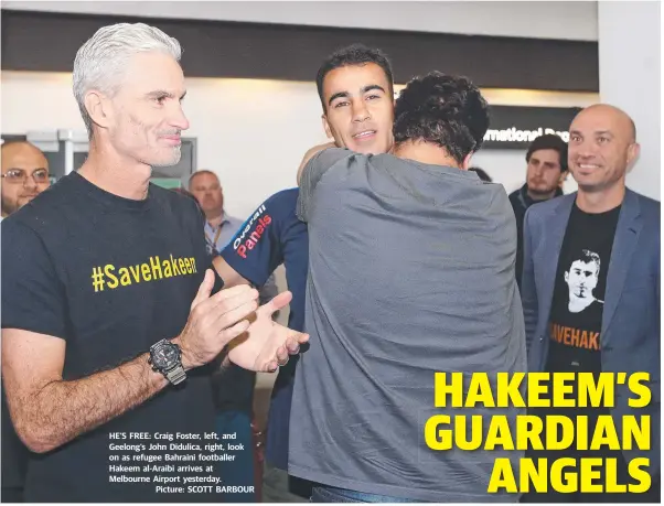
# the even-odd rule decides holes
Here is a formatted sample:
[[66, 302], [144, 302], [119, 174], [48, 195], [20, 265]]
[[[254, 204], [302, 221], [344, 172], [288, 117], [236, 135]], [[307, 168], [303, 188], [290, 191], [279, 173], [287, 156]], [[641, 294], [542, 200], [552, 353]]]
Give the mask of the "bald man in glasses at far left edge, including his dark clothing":
[[[25, 141], [6, 142], [2, 152], [2, 217], [23, 207], [51, 185], [49, 161], [36, 147]], [[2, 254], [10, 254], [7, 247]], [[7, 297], [7, 295], [6, 295]], [[29, 452], [14, 432], [2, 386], [2, 503], [23, 500], [23, 482]]]

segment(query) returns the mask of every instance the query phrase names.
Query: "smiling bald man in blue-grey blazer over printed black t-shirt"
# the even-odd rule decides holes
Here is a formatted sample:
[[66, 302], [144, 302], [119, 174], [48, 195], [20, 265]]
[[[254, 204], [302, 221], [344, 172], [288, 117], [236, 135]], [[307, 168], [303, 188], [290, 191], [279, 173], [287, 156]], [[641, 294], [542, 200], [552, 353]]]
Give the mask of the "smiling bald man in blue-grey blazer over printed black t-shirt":
[[[650, 450], [531, 452], [551, 460], [615, 459], [618, 483], [628, 464], [650, 459], [652, 485], [643, 494], [527, 494], [523, 502], [660, 502], [660, 203], [630, 191], [625, 174], [639, 155], [635, 127], [609, 105], [583, 109], [569, 137], [574, 194], [531, 207], [524, 225], [522, 301], [528, 372], [650, 374], [650, 403], [632, 408], [626, 385], [615, 386], [613, 408], [538, 408], [540, 416], [610, 415], [620, 438], [622, 417], [651, 417]], [[576, 390], [576, 385], [575, 385]], [[638, 418], [639, 419], [639, 418]], [[574, 418], [572, 418], [574, 420]], [[607, 482], [603, 467], [602, 480]], [[580, 483], [580, 481], [579, 481]]]

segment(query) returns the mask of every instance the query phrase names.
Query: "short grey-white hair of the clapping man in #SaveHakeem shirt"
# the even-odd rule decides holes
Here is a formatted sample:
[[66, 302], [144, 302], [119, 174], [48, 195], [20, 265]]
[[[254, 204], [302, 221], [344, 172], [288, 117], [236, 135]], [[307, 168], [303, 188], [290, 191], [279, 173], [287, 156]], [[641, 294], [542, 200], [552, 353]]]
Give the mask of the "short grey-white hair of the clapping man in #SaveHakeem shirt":
[[90, 89], [113, 96], [129, 58], [138, 53], [162, 52], [176, 62], [182, 49], [176, 39], [144, 23], [117, 23], [100, 28], [81, 46], [74, 60], [74, 97], [93, 137], [93, 119], [85, 108], [85, 94]]

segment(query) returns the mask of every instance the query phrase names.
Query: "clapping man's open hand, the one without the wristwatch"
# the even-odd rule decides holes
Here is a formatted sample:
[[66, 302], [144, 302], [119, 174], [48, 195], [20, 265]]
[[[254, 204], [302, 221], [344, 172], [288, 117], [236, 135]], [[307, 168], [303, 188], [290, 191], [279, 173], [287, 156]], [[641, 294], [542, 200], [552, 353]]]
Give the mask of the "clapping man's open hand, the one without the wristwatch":
[[282, 292], [250, 316], [249, 327], [228, 344], [228, 358], [234, 364], [258, 373], [271, 373], [297, 355], [309, 335], [272, 321], [272, 314], [288, 305], [292, 293]]

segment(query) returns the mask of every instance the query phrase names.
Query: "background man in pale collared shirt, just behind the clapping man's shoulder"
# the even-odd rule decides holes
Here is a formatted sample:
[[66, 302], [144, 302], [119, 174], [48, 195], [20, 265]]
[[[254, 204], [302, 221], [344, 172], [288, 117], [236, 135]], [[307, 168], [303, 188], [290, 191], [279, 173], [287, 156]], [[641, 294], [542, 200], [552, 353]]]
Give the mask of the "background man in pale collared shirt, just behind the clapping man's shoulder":
[[[224, 190], [218, 176], [208, 170], [196, 171], [189, 180], [189, 191], [205, 214], [205, 244], [208, 255], [216, 257], [243, 226], [243, 220], [224, 209]], [[259, 300], [268, 302], [277, 297], [275, 276], [260, 284]], [[254, 485], [255, 461], [251, 439], [254, 417], [254, 388], [256, 373], [231, 365], [212, 375], [212, 388], [217, 410], [217, 430], [224, 434], [237, 434], [237, 443], [244, 445], [233, 462], [221, 462], [219, 470], [227, 483], [237, 486]], [[255, 503], [254, 494], [223, 494], [229, 503]]]

